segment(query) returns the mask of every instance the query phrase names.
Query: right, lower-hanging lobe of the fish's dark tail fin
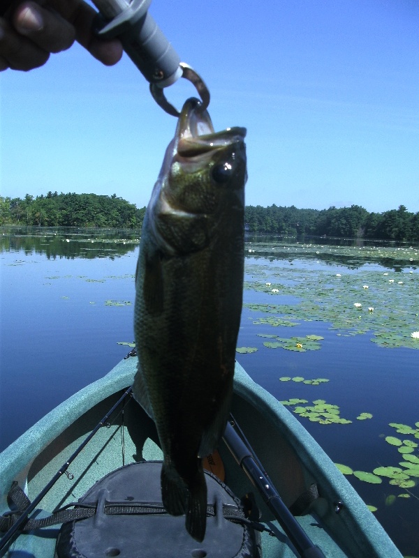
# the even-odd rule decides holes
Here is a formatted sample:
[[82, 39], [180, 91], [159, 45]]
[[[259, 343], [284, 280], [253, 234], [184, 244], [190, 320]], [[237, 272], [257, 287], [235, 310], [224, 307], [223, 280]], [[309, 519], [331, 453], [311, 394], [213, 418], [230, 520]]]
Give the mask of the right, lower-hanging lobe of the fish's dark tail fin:
[[205, 537], [207, 525], [207, 483], [202, 467], [200, 467], [188, 486], [188, 497], [186, 499], [186, 531], [198, 543], [202, 543]]

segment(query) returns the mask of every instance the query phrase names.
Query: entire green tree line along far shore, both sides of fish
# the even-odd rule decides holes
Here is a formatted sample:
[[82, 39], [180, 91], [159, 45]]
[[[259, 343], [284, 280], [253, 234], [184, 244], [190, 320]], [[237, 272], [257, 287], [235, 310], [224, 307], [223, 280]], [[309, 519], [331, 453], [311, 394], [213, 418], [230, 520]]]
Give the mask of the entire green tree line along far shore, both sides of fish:
[[[138, 209], [116, 194], [0, 197], [0, 225], [140, 229], [144, 214], [145, 207]], [[247, 206], [245, 221], [253, 233], [419, 241], [419, 212], [410, 213], [404, 205], [383, 213], [369, 213], [358, 205], [322, 210]]]

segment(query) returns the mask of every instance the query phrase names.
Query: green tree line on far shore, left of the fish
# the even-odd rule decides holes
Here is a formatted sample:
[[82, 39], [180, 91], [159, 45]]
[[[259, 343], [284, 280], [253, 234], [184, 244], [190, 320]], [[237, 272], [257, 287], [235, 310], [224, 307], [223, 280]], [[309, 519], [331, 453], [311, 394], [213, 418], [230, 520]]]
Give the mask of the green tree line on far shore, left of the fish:
[[39, 227], [115, 227], [140, 229], [145, 207], [122, 197], [96, 194], [59, 194], [46, 196], [0, 197], [0, 225], [38, 225]]

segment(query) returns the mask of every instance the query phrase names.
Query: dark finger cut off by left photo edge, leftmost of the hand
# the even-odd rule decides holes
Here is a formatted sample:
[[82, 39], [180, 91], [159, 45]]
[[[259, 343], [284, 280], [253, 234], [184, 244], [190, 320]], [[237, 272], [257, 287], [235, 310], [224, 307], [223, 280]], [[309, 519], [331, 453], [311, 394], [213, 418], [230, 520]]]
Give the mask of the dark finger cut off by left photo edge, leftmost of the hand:
[[0, 18], [0, 59], [3, 70], [32, 70], [43, 66], [49, 56], [49, 52], [20, 36], [6, 20]]

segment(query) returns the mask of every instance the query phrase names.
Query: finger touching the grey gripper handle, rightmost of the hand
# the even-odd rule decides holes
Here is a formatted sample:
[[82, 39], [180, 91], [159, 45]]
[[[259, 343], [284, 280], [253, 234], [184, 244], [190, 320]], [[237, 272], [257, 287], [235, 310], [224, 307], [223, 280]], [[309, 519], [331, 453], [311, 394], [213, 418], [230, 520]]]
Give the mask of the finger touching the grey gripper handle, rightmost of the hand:
[[51, 6], [75, 27], [76, 40], [106, 66], [116, 64], [122, 57], [118, 39], [103, 40], [92, 31], [96, 11], [82, 0], [50, 0]]

